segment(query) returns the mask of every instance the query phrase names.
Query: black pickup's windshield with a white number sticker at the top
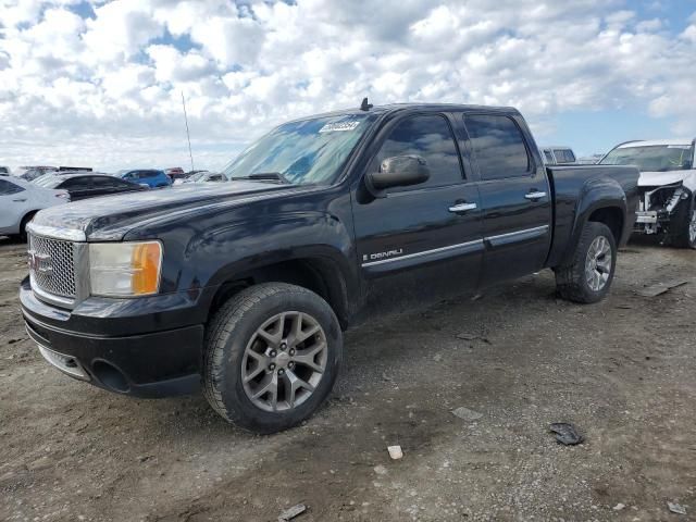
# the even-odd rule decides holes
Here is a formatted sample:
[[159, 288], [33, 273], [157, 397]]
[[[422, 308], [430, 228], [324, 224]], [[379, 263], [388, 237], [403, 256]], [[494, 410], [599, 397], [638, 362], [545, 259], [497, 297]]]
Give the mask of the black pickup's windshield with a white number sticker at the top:
[[229, 179], [278, 173], [294, 185], [332, 184], [375, 117], [344, 114], [286, 123], [251, 145], [223, 172]]

